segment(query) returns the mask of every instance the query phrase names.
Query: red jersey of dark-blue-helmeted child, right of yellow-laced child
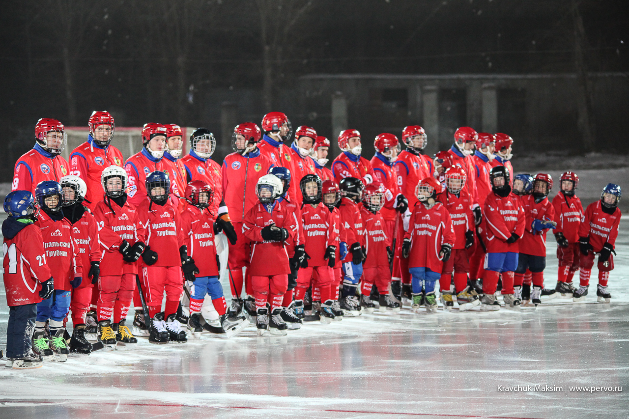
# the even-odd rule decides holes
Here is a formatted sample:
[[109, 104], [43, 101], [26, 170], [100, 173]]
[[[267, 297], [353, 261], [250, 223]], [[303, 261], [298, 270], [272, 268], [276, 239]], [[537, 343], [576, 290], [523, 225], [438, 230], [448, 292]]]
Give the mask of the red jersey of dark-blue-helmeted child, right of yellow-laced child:
[[[138, 206], [138, 220], [138, 235], [157, 252], [157, 262], [152, 266], [181, 266], [179, 248], [184, 245], [184, 235], [179, 211], [168, 201], [159, 205], [147, 197]], [[143, 260], [142, 266], [146, 266]]]

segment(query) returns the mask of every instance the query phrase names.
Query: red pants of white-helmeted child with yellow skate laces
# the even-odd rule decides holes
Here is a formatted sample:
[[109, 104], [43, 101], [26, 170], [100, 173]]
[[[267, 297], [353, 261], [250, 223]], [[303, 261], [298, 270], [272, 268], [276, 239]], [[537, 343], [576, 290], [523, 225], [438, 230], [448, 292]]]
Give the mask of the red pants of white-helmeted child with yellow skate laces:
[[98, 279], [98, 321], [109, 320], [114, 316], [114, 323], [126, 318], [135, 289], [135, 274], [121, 276], [101, 276]]

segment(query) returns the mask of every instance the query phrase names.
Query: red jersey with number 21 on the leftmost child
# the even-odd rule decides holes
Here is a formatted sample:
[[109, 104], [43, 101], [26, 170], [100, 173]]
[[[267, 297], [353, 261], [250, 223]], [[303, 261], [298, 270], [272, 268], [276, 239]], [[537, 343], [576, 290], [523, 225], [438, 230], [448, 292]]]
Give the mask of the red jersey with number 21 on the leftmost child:
[[4, 291], [9, 307], [42, 301], [40, 282], [52, 276], [40, 229], [8, 218], [3, 223]]

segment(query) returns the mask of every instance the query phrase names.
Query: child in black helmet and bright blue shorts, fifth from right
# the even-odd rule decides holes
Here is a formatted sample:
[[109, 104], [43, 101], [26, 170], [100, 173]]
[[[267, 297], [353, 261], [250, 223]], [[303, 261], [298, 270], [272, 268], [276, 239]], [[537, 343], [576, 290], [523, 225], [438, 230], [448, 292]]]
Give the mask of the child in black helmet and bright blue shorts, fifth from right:
[[500, 310], [496, 300], [498, 277], [503, 279], [504, 303], [511, 308], [520, 306], [520, 299], [514, 296], [513, 272], [518, 267], [518, 252], [525, 229], [525, 213], [520, 198], [511, 193], [509, 172], [504, 166], [497, 166], [489, 172], [492, 193], [485, 199], [483, 214], [487, 221], [485, 231], [485, 273], [482, 277], [481, 310]]

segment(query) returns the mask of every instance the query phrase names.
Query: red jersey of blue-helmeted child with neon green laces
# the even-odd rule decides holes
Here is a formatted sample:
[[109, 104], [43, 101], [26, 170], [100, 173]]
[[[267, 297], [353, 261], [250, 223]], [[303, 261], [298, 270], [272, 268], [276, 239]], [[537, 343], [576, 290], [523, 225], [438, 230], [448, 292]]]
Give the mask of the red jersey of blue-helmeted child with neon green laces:
[[46, 263], [55, 279], [55, 289], [70, 291], [70, 281], [82, 276], [81, 258], [77, 257], [72, 224], [66, 218], [53, 220], [46, 211], [40, 211], [35, 225], [42, 232]]

